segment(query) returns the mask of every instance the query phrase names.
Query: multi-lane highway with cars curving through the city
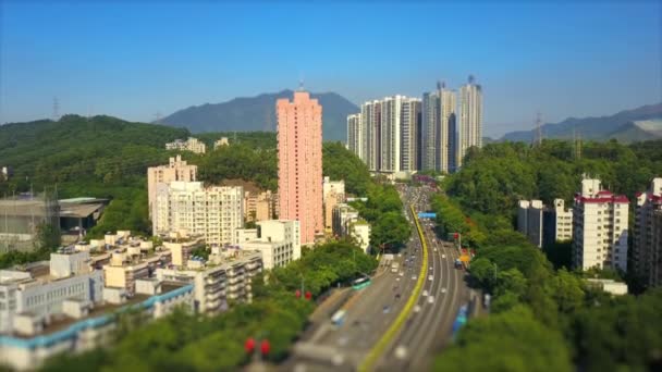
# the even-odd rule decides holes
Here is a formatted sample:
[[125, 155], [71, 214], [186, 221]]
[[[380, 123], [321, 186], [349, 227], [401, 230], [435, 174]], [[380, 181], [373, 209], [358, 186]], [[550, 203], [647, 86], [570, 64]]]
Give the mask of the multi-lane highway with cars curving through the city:
[[457, 310], [469, 300], [464, 272], [453, 268], [458, 253], [437, 239], [429, 221], [419, 220], [418, 234], [412, 210], [429, 209], [428, 193], [405, 187], [401, 195], [412, 206], [404, 213], [413, 235], [394, 258], [396, 272], [383, 266], [370, 286], [353, 292], [342, 325], [330, 319], [312, 324], [281, 370], [420, 371], [449, 342]]

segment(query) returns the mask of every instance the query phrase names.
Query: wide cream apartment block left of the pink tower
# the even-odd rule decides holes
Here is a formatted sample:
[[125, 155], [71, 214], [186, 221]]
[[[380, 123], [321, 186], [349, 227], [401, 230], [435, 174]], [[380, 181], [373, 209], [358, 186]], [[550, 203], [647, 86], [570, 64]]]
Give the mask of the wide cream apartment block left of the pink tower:
[[152, 208], [155, 235], [184, 232], [201, 236], [207, 244], [222, 245], [231, 243], [234, 231], [243, 227], [242, 186], [204, 187], [201, 182], [157, 185]]

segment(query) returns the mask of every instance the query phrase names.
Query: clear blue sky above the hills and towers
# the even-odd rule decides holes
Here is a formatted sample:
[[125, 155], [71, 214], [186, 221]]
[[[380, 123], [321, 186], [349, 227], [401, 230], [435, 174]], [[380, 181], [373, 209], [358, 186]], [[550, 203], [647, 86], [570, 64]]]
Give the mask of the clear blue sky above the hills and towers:
[[0, 0], [0, 123], [151, 121], [296, 88], [360, 103], [477, 76], [485, 132], [662, 101], [660, 1]]

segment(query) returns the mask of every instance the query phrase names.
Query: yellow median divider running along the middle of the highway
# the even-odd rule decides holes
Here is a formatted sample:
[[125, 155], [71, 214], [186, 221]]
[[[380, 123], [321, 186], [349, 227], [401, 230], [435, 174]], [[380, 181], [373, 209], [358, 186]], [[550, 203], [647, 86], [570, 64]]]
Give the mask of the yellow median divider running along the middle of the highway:
[[375, 344], [372, 349], [370, 349], [366, 359], [364, 359], [364, 361], [358, 367], [358, 371], [361, 371], [361, 372], [371, 371], [375, 369], [375, 364], [377, 363], [379, 357], [384, 352], [384, 350], [387, 349], [389, 344], [391, 344], [391, 342], [393, 342], [393, 337], [395, 337], [397, 332], [400, 332], [400, 330], [404, 325], [405, 320], [412, 312], [412, 309], [414, 308], [414, 303], [416, 303], [416, 300], [417, 300], [418, 296], [420, 295], [420, 292], [425, 284], [426, 273], [428, 272], [428, 246], [426, 244], [426, 239], [425, 239], [422, 230], [420, 228], [418, 218], [416, 216], [416, 211], [414, 210], [414, 206], [409, 206], [409, 209], [412, 210], [412, 214], [414, 215], [414, 222], [416, 223], [416, 230], [418, 230], [418, 237], [420, 238], [420, 243], [422, 246], [422, 265], [420, 266], [420, 273], [418, 274], [418, 281], [416, 282], [414, 292], [407, 299], [407, 303], [405, 303], [405, 307], [403, 308], [403, 310], [400, 312], [400, 314], [397, 315], [395, 321], [391, 324], [389, 330], [387, 330], [384, 335], [377, 342], [377, 344]]

